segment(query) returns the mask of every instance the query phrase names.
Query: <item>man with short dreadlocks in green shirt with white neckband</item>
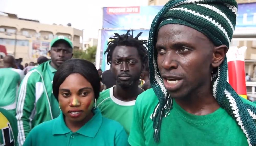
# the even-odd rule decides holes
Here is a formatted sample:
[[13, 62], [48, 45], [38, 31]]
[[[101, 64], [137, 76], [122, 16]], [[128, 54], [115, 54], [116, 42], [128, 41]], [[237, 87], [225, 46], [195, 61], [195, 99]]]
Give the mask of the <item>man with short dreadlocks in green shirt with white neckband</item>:
[[113, 40], [108, 43], [105, 53], [108, 53], [107, 62], [111, 64], [116, 85], [102, 91], [97, 100], [102, 116], [121, 123], [127, 134], [132, 125], [135, 100], [144, 91], [138, 87], [138, 83], [148, 62], [147, 41], [138, 40], [142, 33], [133, 37], [133, 30], [131, 32], [128, 30], [126, 34], [115, 34], [110, 38]]

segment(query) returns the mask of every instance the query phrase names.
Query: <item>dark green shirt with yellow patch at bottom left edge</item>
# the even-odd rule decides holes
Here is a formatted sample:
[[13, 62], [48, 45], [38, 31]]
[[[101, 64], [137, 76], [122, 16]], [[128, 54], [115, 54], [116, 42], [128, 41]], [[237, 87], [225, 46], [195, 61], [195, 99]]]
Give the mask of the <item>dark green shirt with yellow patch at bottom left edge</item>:
[[17, 145], [17, 119], [9, 111], [0, 108], [0, 145]]

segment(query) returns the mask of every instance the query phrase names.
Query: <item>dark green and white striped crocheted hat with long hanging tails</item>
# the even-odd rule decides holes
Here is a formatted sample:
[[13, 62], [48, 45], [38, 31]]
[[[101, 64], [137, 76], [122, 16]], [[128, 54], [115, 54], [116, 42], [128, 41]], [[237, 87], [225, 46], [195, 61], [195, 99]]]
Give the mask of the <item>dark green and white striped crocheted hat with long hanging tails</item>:
[[[156, 15], [148, 38], [150, 82], [159, 103], [151, 119], [155, 141], [160, 139], [161, 122], [172, 109], [173, 99], [163, 85], [154, 49], [161, 26], [181, 24], [206, 35], [215, 46], [229, 47], [236, 25], [237, 2], [235, 0], [170, 0]], [[256, 108], [244, 104], [227, 82], [227, 58], [212, 71], [212, 92], [219, 105], [232, 116], [247, 137], [249, 145], [256, 145]]]

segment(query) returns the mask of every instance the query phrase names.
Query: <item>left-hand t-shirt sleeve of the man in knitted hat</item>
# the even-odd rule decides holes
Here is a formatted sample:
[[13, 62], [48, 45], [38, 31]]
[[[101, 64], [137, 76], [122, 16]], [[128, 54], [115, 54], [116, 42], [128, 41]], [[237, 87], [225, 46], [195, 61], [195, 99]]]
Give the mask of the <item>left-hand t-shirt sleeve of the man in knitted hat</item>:
[[141, 101], [140, 99], [138, 100], [139, 96], [137, 97], [137, 100], [135, 102], [132, 127], [130, 131], [130, 136], [128, 138], [128, 142], [131, 146], [145, 146], [145, 136], [143, 134], [143, 122], [141, 121], [143, 117], [140, 117]]

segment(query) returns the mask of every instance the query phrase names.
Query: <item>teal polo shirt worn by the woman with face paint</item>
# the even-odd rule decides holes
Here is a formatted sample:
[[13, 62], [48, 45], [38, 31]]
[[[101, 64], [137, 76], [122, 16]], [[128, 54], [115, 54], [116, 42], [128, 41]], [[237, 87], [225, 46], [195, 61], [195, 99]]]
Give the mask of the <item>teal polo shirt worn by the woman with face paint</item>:
[[77, 132], [66, 126], [64, 115], [41, 123], [28, 134], [23, 146], [128, 146], [127, 134], [116, 121], [102, 117], [98, 108], [94, 116]]

